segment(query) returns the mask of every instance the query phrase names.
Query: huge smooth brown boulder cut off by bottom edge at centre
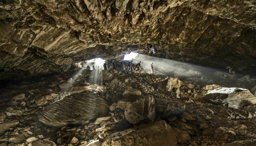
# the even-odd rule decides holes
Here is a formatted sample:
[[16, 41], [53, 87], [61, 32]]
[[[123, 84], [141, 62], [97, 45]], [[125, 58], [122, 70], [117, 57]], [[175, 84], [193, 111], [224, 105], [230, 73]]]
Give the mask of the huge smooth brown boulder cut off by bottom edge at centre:
[[176, 146], [177, 135], [165, 121], [142, 124], [107, 136], [102, 146]]

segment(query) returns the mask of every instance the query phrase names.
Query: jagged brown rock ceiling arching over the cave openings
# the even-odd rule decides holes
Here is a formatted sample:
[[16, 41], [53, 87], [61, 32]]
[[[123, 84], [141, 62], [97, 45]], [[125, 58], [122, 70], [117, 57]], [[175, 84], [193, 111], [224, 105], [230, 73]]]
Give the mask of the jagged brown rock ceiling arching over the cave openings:
[[255, 69], [256, 2], [0, 0], [0, 33], [0, 68], [30, 73], [148, 44], [156, 55], [242, 71]]

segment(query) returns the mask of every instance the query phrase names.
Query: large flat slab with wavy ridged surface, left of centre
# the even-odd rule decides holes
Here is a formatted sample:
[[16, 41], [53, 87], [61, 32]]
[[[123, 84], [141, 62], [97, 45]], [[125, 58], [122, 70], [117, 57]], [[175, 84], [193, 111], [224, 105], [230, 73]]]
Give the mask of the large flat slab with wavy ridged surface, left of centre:
[[103, 97], [90, 92], [72, 94], [54, 102], [38, 114], [45, 125], [62, 127], [105, 116], [108, 106]]

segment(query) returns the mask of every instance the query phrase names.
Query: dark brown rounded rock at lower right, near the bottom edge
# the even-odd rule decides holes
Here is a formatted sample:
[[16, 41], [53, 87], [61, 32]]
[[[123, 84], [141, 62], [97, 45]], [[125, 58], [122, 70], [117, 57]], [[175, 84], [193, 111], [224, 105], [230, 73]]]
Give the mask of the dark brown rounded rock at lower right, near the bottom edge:
[[218, 140], [221, 143], [230, 143], [233, 142], [235, 140], [235, 132], [233, 129], [231, 128], [227, 128], [227, 127], [218, 127], [215, 131], [214, 131], [214, 139]]

